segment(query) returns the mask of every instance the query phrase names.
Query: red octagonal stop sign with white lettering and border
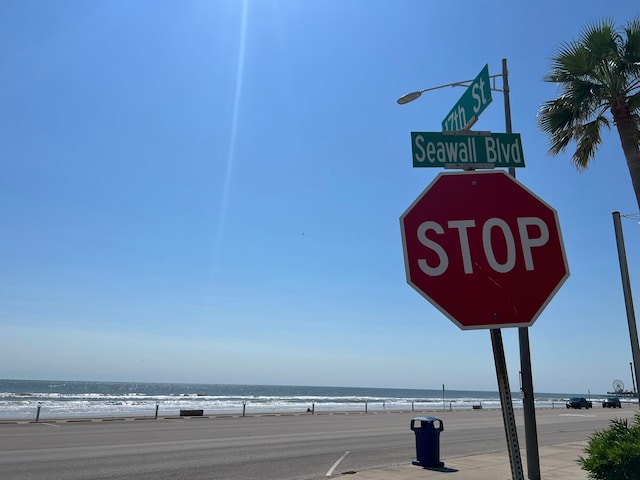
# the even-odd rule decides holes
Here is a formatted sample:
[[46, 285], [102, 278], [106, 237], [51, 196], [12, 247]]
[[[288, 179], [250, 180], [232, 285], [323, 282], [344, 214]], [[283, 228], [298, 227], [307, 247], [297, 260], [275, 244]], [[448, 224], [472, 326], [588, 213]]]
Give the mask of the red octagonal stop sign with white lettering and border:
[[440, 173], [400, 228], [407, 282], [462, 329], [529, 326], [569, 276], [556, 211], [504, 171]]

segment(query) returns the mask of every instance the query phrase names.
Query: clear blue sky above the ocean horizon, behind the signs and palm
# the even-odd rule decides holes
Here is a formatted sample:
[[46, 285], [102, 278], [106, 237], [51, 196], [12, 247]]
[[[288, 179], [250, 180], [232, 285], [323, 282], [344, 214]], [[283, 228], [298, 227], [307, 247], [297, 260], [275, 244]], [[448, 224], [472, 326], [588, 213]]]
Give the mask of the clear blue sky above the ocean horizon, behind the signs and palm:
[[[530, 329], [534, 388], [631, 387], [619, 139], [579, 173], [536, 112], [560, 44], [632, 3], [0, 3], [0, 377], [496, 390], [489, 331], [406, 284], [398, 222], [440, 171], [412, 167], [410, 132], [464, 90], [396, 99], [507, 58], [518, 179], [571, 269]], [[504, 131], [501, 94], [474, 128]]]

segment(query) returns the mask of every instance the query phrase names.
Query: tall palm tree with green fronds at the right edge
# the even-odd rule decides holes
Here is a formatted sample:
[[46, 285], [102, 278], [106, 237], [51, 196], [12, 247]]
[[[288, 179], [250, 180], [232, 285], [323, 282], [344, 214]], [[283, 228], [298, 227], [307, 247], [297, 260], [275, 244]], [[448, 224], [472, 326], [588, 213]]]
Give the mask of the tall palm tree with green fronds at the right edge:
[[538, 113], [549, 153], [557, 155], [574, 141], [571, 162], [585, 170], [602, 142], [602, 128], [609, 129], [613, 119], [640, 208], [640, 20], [622, 29], [611, 19], [592, 22], [577, 40], [562, 44], [551, 62], [544, 80], [557, 83], [560, 96]]

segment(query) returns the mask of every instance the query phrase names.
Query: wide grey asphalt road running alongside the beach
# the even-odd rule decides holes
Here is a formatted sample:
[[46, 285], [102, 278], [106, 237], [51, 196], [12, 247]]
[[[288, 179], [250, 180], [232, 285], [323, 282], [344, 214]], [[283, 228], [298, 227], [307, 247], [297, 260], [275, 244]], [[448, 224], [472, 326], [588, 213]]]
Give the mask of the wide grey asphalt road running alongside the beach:
[[[637, 409], [537, 411], [539, 445], [584, 440]], [[410, 420], [442, 419], [440, 457], [506, 451], [499, 410], [94, 419], [0, 424], [3, 480], [310, 480], [415, 458]], [[521, 412], [516, 411], [520, 448]], [[523, 456], [524, 461], [524, 456]]]

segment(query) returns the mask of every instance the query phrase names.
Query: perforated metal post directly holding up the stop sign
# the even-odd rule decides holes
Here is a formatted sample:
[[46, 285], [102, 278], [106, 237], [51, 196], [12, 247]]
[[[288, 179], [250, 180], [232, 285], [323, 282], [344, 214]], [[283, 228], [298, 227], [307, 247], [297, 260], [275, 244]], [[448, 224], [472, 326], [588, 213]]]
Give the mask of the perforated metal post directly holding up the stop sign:
[[522, 459], [520, 458], [516, 417], [513, 413], [513, 404], [511, 403], [509, 375], [507, 373], [507, 362], [504, 357], [504, 347], [502, 344], [502, 331], [499, 328], [492, 328], [490, 331], [493, 358], [496, 364], [496, 376], [498, 377], [498, 391], [500, 392], [500, 403], [502, 404], [502, 420], [507, 436], [509, 461], [511, 462], [511, 477], [513, 480], [525, 480], [522, 470]]

